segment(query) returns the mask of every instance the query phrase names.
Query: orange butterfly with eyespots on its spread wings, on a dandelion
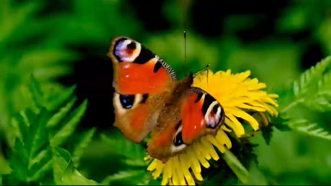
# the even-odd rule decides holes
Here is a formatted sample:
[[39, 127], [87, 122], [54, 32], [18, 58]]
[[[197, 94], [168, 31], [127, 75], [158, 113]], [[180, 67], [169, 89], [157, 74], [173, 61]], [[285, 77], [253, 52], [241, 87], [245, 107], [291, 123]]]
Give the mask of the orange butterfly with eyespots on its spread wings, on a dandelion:
[[163, 163], [224, 123], [221, 104], [199, 87], [194, 74], [178, 79], [159, 56], [129, 37], [112, 39], [114, 126]]

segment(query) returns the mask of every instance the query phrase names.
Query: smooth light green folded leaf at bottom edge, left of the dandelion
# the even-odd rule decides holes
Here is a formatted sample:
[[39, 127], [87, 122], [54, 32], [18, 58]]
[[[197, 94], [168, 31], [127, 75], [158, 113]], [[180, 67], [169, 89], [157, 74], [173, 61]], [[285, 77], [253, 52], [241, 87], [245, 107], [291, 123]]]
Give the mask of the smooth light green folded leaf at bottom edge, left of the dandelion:
[[71, 156], [66, 149], [53, 147], [53, 172], [57, 185], [98, 185], [96, 181], [82, 176], [71, 161]]

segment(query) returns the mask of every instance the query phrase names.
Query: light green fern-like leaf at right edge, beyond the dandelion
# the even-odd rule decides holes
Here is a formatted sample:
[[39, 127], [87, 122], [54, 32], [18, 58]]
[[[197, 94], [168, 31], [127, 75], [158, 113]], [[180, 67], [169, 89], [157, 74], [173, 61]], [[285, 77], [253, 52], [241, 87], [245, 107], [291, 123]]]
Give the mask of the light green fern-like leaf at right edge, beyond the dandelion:
[[[331, 140], [331, 135], [319, 127], [318, 123], [302, 118], [301, 115], [293, 114], [296, 112], [294, 106], [304, 105], [303, 108], [309, 110], [315, 110], [319, 112], [325, 112], [331, 110], [331, 56], [321, 60], [316, 65], [312, 66], [309, 70], [306, 70], [301, 74], [297, 81], [294, 81], [292, 89], [288, 90], [288, 93], [292, 91], [288, 96], [283, 96], [283, 101], [287, 103], [281, 103], [281, 115], [288, 117], [288, 121], [284, 121], [288, 127], [298, 132], [310, 136], [316, 136]], [[300, 118], [299, 118], [300, 117]]]

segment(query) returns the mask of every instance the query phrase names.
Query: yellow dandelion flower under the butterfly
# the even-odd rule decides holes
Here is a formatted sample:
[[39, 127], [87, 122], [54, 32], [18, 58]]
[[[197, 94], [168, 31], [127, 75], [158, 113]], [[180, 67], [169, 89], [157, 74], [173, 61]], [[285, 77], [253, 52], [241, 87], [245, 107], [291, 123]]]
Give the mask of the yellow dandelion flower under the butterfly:
[[[219, 160], [215, 147], [222, 153], [225, 152], [225, 147], [231, 148], [230, 138], [225, 132], [233, 130], [239, 137], [245, 134], [243, 124], [237, 118], [242, 118], [254, 130], [258, 130], [259, 121], [263, 125], [269, 123], [265, 113], [277, 116], [278, 112], [274, 109], [278, 107], [274, 100], [277, 99], [277, 94], [267, 94], [262, 90], [266, 87], [265, 83], [259, 83], [257, 79], [250, 79], [249, 76], [250, 71], [231, 74], [231, 70], [228, 70], [214, 74], [208, 70], [194, 77], [193, 86], [205, 90], [223, 106], [225, 125], [216, 136], [203, 136], [187, 147], [183, 153], [170, 158], [167, 163], [147, 156], [146, 161], [150, 163], [148, 171], [152, 172], [154, 179], [162, 174], [161, 185], [195, 185], [194, 180], [203, 180], [201, 165], [209, 168], [208, 161], [211, 158], [215, 161]], [[259, 113], [261, 120], [257, 120], [247, 111]]]

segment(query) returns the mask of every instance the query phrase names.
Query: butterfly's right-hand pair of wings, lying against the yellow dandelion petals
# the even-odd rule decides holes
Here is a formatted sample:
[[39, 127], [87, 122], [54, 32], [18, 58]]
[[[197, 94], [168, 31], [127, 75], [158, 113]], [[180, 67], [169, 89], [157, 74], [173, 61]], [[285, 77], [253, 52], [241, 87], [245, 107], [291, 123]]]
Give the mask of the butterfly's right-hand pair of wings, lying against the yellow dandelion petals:
[[148, 142], [148, 154], [163, 162], [183, 152], [202, 136], [216, 135], [224, 122], [223, 107], [200, 88], [191, 87], [181, 99], [180, 112], [177, 113], [179, 120], [176, 116], [168, 119], [167, 125], [152, 132]]

